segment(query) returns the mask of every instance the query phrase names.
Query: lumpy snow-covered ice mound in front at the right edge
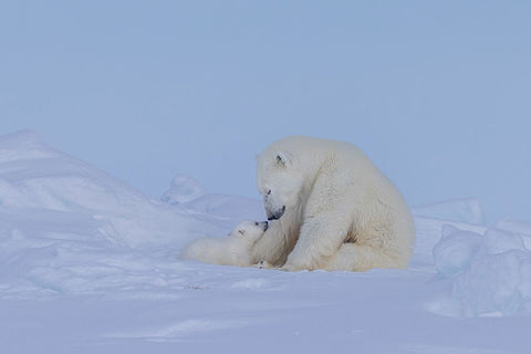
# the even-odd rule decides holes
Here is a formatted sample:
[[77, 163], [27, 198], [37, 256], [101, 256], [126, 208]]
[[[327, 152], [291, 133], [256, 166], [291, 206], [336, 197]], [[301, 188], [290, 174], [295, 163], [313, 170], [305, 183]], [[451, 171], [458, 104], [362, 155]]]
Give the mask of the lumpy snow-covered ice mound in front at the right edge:
[[448, 226], [434, 259], [438, 275], [451, 284], [445, 300], [449, 308], [441, 314], [531, 314], [531, 252], [521, 236], [498, 229], [479, 235]]

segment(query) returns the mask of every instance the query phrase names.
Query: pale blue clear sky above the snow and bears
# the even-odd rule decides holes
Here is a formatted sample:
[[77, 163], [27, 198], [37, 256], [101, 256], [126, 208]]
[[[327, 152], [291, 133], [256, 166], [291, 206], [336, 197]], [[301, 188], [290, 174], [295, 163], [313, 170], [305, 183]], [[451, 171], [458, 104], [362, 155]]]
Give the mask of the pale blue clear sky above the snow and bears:
[[0, 134], [159, 197], [257, 197], [254, 155], [352, 142], [410, 205], [531, 219], [529, 1], [2, 1]]

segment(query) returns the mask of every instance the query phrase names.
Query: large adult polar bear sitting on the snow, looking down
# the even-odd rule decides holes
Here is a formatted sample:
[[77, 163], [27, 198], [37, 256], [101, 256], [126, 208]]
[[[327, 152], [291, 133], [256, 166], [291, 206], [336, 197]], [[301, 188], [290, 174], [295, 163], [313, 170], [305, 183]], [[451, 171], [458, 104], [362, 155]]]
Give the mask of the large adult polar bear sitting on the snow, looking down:
[[406, 268], [415, 243], [403, 196], [357, 147], [291, 136], [258, 157], [271, 221], [252, 260], [284, 270]]

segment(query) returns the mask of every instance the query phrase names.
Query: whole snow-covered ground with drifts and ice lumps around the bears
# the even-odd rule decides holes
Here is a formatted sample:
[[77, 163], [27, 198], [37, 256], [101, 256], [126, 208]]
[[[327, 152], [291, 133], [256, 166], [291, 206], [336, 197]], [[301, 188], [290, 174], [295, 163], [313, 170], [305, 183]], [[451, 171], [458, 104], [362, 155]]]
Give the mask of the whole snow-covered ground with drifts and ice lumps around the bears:
[[531, 226], [477, 200], [414, 209], [408, 270], [179, 261], [263, 219], [177, 176], [150, 200], [31, 132], [0, 137], [1, 353], [530, 353]]

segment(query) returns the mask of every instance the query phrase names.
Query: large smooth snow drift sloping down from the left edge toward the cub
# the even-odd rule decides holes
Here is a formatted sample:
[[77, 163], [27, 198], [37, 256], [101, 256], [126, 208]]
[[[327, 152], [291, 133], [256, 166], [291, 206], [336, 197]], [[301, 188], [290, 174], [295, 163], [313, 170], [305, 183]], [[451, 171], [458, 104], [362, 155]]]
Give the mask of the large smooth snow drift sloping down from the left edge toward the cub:
[[175, 260], [189, 240], [225, 229], [149, 200], [31, 132], [0, 139], [0, 225], [8, 296], [19, 288], [25, 296], [160, 284], [157, 261]]

